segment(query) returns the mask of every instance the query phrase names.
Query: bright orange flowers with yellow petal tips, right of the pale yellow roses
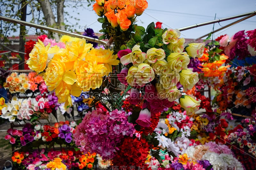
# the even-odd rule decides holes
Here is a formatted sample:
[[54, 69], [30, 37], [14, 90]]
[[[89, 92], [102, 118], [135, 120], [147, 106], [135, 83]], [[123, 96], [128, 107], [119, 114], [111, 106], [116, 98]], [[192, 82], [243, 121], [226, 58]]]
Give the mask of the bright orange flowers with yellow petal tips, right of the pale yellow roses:
[[[207, 55], [203, 55], [204, 59], [207, 59]], [[209, 59], [209, 57], [208, 57]], [[205, 77], [222, 77], [224, 72], [227, 71], [227, 68], [231, 65], [222, 66], [228, 59], [227, 55], [220, 55], [220, 60], [214, 61], [212, 63], [205, 62], [202, 64], [203, 68], [200, 68], [204, 72]]]

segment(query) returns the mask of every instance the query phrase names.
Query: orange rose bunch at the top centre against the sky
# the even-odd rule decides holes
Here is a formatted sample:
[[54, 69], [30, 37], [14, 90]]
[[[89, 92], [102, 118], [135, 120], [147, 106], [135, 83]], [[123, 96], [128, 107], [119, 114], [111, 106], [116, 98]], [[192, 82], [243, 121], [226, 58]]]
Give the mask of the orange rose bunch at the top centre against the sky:
[[132, 24], [131, 19], [140, 16], [148, 8], [147, 0], [95, 0], [93, 10], [102, 17], [105, 15], [112, 27], [120, 26], [126, 31]]

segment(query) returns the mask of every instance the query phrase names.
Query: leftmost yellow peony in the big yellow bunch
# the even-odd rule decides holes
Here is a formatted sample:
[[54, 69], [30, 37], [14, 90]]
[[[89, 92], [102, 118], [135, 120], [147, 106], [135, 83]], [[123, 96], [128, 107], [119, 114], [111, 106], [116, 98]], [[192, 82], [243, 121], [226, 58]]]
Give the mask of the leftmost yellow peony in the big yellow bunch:
[[51, 56], [48, 54], [53, 54], [59, 51], [58, 46], [54, 46], [50, 48], [51, 44], [48, 44], [46, 47], [44, 43], [40, 40], [36, 42], [34, 48], [32, 49], [31, 53], [29, 53], [29, 59], [27, 61], [28, 67], [31, 70], [36, 71], [37, 73], [44, 71], [46, 65], [51, 60]]

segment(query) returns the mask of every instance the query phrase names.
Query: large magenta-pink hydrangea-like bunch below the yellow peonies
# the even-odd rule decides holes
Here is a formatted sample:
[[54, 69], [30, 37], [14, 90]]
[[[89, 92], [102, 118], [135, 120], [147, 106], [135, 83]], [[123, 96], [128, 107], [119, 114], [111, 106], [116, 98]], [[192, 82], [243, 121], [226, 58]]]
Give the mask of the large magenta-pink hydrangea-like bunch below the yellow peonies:
[[114, 110], [106, 115], [99, 109], [88, 112], [77, 126], [74, 140], [82, 152], [97, 152], [103, 159], [112, 159], [124, 136], [132, 137], [135, 129], [124, 111]]

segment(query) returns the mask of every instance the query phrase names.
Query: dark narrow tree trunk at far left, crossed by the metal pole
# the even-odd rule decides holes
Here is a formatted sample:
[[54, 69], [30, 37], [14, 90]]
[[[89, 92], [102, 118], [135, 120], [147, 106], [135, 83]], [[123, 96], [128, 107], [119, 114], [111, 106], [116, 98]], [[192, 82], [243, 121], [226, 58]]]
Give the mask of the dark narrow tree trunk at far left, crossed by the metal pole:
[[[27, 15], [27, 4], [26, 4], [26, 0], [22, 0], [21, 1], [21, 9], [20, 9], [20, 13], [21, 13], [21, 17], [20, 20], [21, 21], [26, 21], [26, 15]], [[25, 52], [25, 40], [24, 40], [24, 35], [26, 34], [26, 27], [22, 24], [20, 24], [20, 43], [19, 43], [19, 51], [20, 52]], [[19, 64], [19, 70], [24, 70], [24, 63], [25, 63], [25, 59], [24, 59], [24, 54], [19, 54], [21, 57], [21, 63]]]

